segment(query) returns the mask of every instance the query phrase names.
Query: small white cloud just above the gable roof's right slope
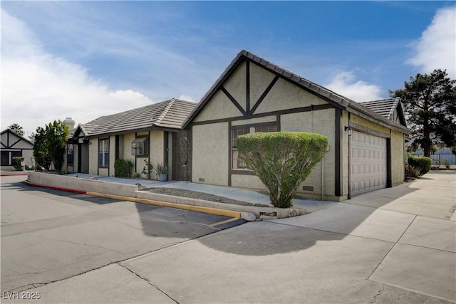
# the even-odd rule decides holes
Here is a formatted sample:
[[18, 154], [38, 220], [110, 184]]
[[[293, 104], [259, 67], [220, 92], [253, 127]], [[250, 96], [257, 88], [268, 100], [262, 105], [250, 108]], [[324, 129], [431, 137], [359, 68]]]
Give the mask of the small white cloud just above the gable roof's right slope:
[[356, 81], [353, 72], [338, 73], [336, 77], [331, 80], [331, 83], [325, 86], [358, 103], [383, 99], [380, 95], [381, 89], [377, 85], [370, 85], [361, 80]]

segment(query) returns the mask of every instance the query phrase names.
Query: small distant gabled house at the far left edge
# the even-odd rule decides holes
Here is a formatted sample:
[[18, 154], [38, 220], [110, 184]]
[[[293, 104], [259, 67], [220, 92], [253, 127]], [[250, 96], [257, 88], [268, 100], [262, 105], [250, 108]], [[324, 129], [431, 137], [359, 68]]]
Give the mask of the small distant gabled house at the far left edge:
[[1, 169], [14, 169], [13, 157], [25, 157], [26, 165], [33, 164], [33, 142], [9, 129], [0, 134]]

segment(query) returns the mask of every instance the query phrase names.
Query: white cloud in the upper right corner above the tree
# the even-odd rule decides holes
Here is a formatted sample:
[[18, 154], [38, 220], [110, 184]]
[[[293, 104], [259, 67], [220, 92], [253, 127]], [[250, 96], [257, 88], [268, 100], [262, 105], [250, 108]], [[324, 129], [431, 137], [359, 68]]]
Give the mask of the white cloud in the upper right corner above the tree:
[[450, 78], [455, 79], [456, 6], [438, 10], [414, 48], [416, 55], [408, 63], [420, 67], [425, 73], [436, 68], [446, 69]]

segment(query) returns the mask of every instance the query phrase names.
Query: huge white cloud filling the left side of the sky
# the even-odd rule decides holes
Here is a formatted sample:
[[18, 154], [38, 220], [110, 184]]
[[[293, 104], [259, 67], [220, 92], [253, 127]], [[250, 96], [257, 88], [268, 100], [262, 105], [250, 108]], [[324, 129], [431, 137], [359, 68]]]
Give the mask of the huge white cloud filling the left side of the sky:
[[1, 11], [1, 130], [26, 132], [66, 117], [76, 123], [153, 103], [133, 90], [113, 90], [81, 65], [43, 51], [24, 22]]

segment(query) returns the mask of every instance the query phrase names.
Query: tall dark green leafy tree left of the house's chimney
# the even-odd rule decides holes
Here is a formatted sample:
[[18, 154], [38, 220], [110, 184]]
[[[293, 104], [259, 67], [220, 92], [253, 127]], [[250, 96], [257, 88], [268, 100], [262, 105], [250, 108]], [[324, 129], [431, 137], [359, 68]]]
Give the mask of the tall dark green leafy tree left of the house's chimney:
[[65, 159], [65, 144], [68, 137], [68, 127], [60, 120], [46, 125], [46, 129], [38, 127], [33, 146], [33, 157], [36, 164], [45, 169], [51, 169], [51, 163], [61, 172]]

